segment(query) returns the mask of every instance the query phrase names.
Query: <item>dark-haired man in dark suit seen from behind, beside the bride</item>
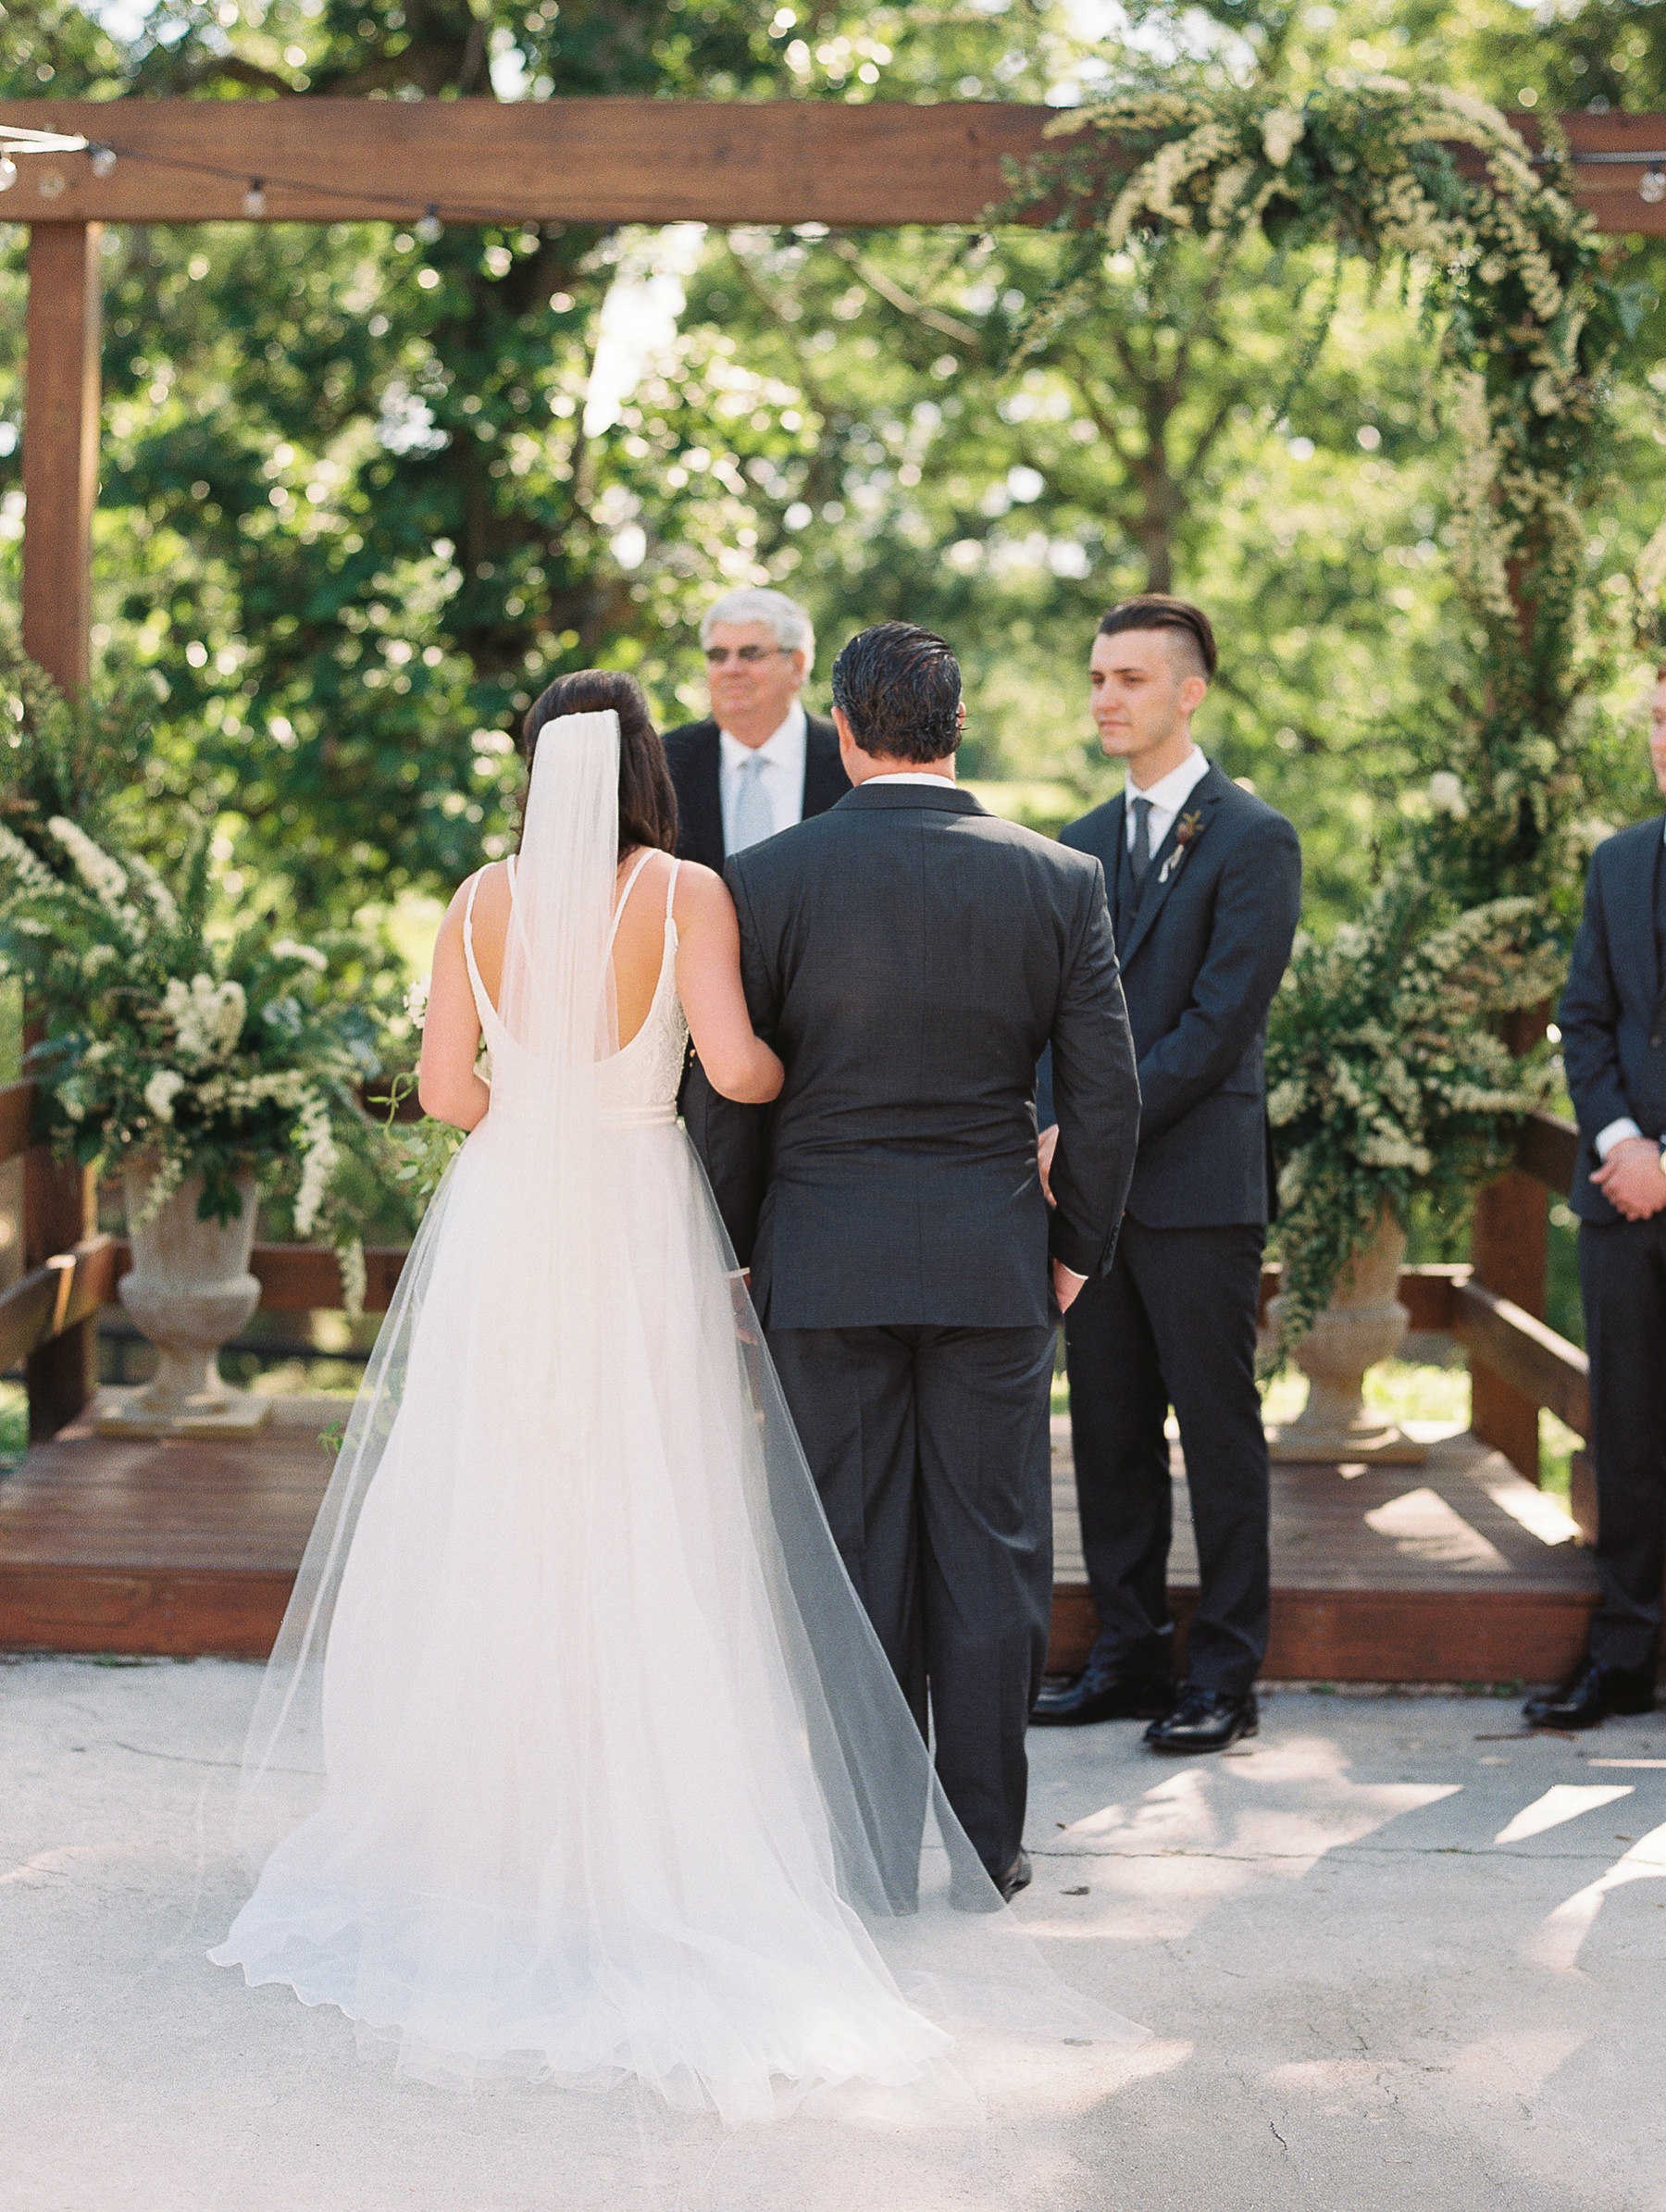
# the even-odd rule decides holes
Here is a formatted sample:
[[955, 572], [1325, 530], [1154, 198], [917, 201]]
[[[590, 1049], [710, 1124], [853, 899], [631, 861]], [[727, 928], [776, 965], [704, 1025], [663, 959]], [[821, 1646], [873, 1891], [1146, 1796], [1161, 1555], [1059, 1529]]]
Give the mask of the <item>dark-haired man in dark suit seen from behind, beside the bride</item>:
[[1011, 1896], [1053, 1599], [1053, 1340], [1122, 1217], [1133, 1044], [1100, 863], [956, 787], [945, 641], [863, 630], [832, 690], [856, 790], [726, 869], [785, 1086], [759, 1110], [697, 1075], [688, 1128], [839, 1551]]

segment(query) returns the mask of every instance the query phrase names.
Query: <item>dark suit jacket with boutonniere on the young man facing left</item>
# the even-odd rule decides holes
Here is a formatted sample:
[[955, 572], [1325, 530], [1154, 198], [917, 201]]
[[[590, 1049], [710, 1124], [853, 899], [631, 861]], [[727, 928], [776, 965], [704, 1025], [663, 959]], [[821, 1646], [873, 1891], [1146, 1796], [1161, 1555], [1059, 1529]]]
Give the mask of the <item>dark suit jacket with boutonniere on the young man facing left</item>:
[[[1179, 821], [1197, 816], [1184, 854]], [[1064, 845], [1126, 865], [1122, 796]], [[1164, 863], [1175, 856], [1164, 880]], [[1301, 916], [1301, 843], [1210, 763], [1150, 856], [1117, 956], [1139, 1053], [1139, 1159], [1128, 1214], [1146, 1228], [1266, 1223], [1274, 1203], [1263, 1051], [1268, 1006]], [[1047, 1093], [1040, 1113], [1047, 1117]]]

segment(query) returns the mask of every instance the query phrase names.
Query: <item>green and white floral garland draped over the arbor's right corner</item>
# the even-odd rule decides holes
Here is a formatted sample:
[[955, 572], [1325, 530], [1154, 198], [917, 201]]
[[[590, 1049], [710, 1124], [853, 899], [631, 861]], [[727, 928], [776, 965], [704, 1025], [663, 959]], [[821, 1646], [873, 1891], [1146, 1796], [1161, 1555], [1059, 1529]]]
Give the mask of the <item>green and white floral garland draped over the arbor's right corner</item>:
[[[1089, 301], [1108, 254], [1177, 234], [1230, 254], [1330, 246], [1420, 299], [1460, 456], [1451, 575], [1471, 664], [1409, 852], [1361, 922], [1303, 940], [1272, 1013], [1283, 1214], [1277, 1358], [1383, 1208], [1460, 1199], [1509, 1166], [1544, 1071], [1498, 1024], [1553, 989], [1555, 914], [1586, 856], [1591, 650], [1584, 513], [1608, 471], [1611, 367], [1642, 294], [1608, 281], [1566, 148], [1445, 86], [1361, 77], [1301, 106], [1243, 88], [1124, 91], [1049, 126], [1020, 181], [1080, 243], [1029, 343]], [[1018, 210], [1013, 210], [1018, 212]], [[1312, 336], [1303, 341], [1312, 349]], [[1666, 573], [1666, 531], [1642, 566]], [[1633, 597], [1653, 591], [1637, 577]]]

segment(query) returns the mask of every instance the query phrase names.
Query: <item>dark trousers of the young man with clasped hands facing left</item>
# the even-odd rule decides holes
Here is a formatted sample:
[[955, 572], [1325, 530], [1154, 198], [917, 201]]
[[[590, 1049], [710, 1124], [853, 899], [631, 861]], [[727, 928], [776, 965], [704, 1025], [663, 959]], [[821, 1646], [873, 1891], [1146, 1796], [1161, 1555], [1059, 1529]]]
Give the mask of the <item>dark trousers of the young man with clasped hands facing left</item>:
[[1268, 1440], [1254, 1387], [1266, 1230], [1155, 1230], [1126, 1217], [1111, 1272], [1064, 1316], [1082, 1553], [1100, 1637], [1089, 1666], [1168, 1672], [1173, 1482], [1179, 1418], [1197, 1535], [1186, 1677], [1241, 1697], [1268, 1648]]

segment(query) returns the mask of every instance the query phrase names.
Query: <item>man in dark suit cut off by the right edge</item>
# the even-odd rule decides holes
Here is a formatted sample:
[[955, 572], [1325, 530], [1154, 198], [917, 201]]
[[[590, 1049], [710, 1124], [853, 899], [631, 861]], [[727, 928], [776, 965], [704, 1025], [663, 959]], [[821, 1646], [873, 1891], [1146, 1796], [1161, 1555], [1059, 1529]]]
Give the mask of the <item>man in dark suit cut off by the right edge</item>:
[[[1666, 792], [1666, 668], [1648, 732]], [[1666, 1568], [1666, 814], [1597, 845], [1562, 993], [1562, 1066], [1580, 1117], [1569, 1203], [1591, 1354], [1595, 1566], [1602, 1604], [1586, 1659], [1540, 1728], [1648, 1712]]]

